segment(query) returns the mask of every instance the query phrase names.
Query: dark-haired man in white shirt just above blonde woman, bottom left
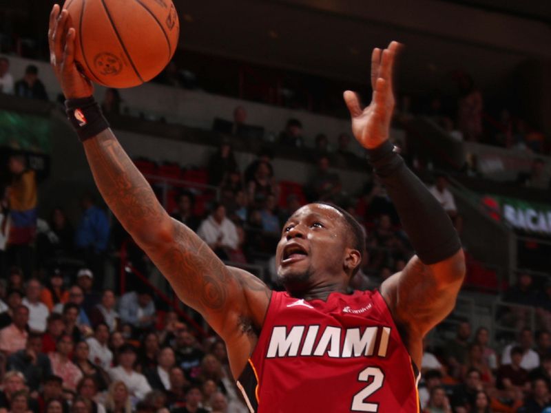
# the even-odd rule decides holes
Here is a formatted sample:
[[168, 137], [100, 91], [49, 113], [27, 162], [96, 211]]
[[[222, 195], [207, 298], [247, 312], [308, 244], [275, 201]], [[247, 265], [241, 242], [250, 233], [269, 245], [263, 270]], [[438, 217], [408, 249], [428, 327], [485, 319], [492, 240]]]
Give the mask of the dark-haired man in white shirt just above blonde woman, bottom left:
[[125, 383], [129, 395], [138, 401], [151, 391], [151, 386], [143, 374], [134, 370], [134, 363], [136, 363], [136, 349], [130, 344], [125, 344], [118, 351], [118, 366], [110, 370], [110, 376], [114, 383], [118, 381]]

